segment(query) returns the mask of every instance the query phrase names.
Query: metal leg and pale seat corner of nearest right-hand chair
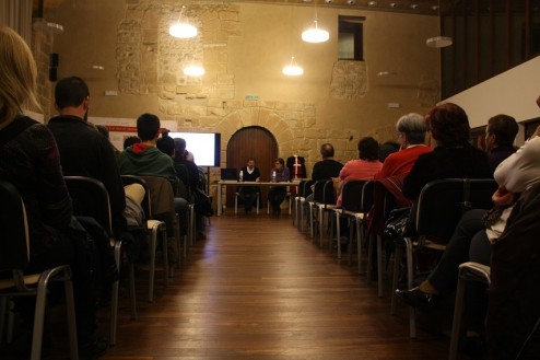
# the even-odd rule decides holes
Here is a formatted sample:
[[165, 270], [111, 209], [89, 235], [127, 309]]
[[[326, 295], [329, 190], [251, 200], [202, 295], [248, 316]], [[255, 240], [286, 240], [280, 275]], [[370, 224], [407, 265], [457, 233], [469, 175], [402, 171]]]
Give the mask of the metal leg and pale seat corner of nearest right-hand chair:
[[459, 265], [456, 302], [454, 304], [454, 321], [451, 323], [449, 360], [455, 360], [457, 358], [466, 281], [480, 281], [490, 286], [490, 267], [474, 262], [467, 262]]

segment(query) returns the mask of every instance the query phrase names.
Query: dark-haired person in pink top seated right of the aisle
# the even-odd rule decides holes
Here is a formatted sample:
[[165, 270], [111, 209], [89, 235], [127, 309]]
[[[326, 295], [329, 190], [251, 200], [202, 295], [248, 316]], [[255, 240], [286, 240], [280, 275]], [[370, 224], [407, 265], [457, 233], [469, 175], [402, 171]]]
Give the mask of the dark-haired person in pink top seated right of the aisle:
[[378, 160], [379, 146], [377, 140], [372, 137], [364, 137], [360, 139], [357, 148], [359, 159], [348, 161], [339, 173], [340, 182], [337, 191], [339, 194], [338, 207], [341, 207], [341, 189], [347, 182], [353, 179], [373, 179], [383, 167], [383, 163]]

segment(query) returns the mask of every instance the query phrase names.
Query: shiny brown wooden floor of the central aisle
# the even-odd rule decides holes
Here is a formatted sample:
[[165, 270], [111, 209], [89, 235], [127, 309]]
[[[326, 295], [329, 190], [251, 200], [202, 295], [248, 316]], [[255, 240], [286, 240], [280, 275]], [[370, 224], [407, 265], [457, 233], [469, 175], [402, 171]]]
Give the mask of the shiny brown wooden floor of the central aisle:
[[[266, 213], [211, 219], [155, 299], [146, 272], [138, 281], [139, 318], [120, 301], [118, 340], [101, 359], [447, 359], [449, 339], [419, 328], [409, 338], [408, 311], [390, 315], [388, 287], [340, 264], [292, 224]], [[108, 330], [108, 312], [99, 332]], [[0, 356], [1, 358], [1, 356]], [[49, 357], [50, 359], [51, 357]], [[56, 358], [52, 356], [52, 358]], [[59, 357], [66, 359], [66, 356]]]

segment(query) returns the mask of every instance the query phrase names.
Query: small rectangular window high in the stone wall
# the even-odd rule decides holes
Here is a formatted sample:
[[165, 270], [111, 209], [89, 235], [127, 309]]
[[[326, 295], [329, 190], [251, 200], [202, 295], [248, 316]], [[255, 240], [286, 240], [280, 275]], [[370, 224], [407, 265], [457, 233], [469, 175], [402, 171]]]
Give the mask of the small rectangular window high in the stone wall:
[[364, 60], [364, 16], [339, 16], [338, 58]]

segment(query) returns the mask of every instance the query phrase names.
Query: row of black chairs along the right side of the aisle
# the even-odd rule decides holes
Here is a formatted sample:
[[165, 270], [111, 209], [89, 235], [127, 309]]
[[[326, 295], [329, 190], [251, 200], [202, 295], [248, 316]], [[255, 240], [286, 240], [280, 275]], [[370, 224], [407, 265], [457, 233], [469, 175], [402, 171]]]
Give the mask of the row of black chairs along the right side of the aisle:
[[[351, 260], [351, 246], [352, 237], [355, 231], [356, 247], [357, 247], [357, 263], [359, 274], [362, 272], [362, 248], [366, 236], [366, 214], [373, 206], [373, 194], [377, 186], [381, 186], [377, 181], [352, 181], [348, 182], [342, 189], [342, 206], [339, 209], [330, 206], [328, 201], [333, 201], [331, 197], [325, 195], [325, 188], [329, 189], [331, 181], [316, 182], [303, 182], [300, 185], [298, 195], [295, 199], [295, 224], [301, 231], [304, 227], [304, 217], [302, 206], [306, 197], [309, 195], [309, 187], [313, 185], [314, 200], [310, 209], [314, 207], [319, 209], [318, 216], [313, 217], [309, 213], [309, 219], [316, 219], [318, 227], [314, 225], [314, 220], [310, 220], [310, 235], [315, 237], [316, 232], [319, 234], [319, 243], [322, 245], [322, 222], [325, 220], [324, 210], [331, 210], [336, 213], [334, 225], [337, 229], [336, 239], [340, 239], [340, 218], [347, 217], [349, 220], [349, 259]], [[384, 188], [384, 187], [383, 187]], [[392, 282], [391, 282], [391, 313], [396, 313], [396, 297], [395, 290], [398, 287], [400, 264], [403, 255], [406, 256], [406, 268], [408, 287], [411, 289], [414, 283], [414, 264], [415, 254], [420, 249], [431, 249], [443, 252], [446, 248], [446, 243], [450, 239], [454, 230], [459, 222], [461, 214], [472, 208], [489, 209], [492, 207], [492, 194], [496, 190], [497, 184], [494, 179], [469, 179], [469, 178], [447, 178], [429, 183], [421, 191], [418, 200], [415, 211], [415, 223], [413, 224], [415, 236], [403, 237], [396, 241], [396, 253], [394, 258]], [[395, 201], [392, 195], [383, 189], [384, 197], [383, 216], [386, 218], [394, 209]], [[322, 210], [321, 210], [322, 209]], [[328, 224], [333, 228], [332, 223]], [[333, 236], [333, 231], [330, 231], [330, 236]], [[378, 294], [383, 297], [384, 280], [383, 280], [383, 237], [369, 236], [368, 247], [368, 265], [367, 265], [367, 279], [371, 279], [371, 260], [374, 258], [372, 255], [372, 244], [376, 241], [376, 257], [377, 257], [377, 271], [378, 271]], [[416, 254], [418, 256], [418, 254]], [[338, 257], [341, 258], [340, 246], [338, 243]], [[459, 284], [456, 293], [456, 306], [454, 314], [454, 324], [451, 329], [450, 339], [450, 359], [455, 359], [457, 355], [457, 344], [459, 338], [460, 320], [463, 303], [463, 287], [465, 281], [482, 281], [489, 283], [489, 268], [476, 263], [466, 263], [460, 267]], [[415, 330], [415, 311], [409, 310], [409, 323], [410, 323], [410, 336], [416, 337]]]

